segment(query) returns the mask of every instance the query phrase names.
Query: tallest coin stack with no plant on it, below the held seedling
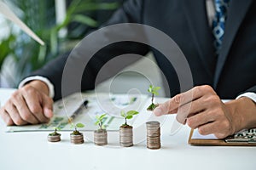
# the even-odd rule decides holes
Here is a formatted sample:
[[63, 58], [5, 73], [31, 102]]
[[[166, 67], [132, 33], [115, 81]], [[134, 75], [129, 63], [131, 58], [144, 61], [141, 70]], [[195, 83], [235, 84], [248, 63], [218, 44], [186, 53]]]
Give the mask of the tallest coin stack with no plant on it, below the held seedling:
[[151, 150], [160, 149], [160, 122], [147, 122], [147, 147]]

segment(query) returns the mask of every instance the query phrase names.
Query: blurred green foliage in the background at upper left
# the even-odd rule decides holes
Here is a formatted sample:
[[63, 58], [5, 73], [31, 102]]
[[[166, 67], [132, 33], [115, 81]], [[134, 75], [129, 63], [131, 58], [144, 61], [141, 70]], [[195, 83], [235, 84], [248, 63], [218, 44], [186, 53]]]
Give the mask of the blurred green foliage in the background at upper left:
[[[7, 22], [9, 35], [0, 40], [0, 87], [17, 88], [23, 77], [71, 50], [88, 31], [108, 20], [123, 3], [123, 0], [63, 1], [67, 4], [67, 14], [59, 24], [56, 24], [55, 1], [5, 1], [46, 45], [40, 46], [13, 23]], [[67, 28], [67, 34], [60, 37], [58, 32], [63, 28]]]

